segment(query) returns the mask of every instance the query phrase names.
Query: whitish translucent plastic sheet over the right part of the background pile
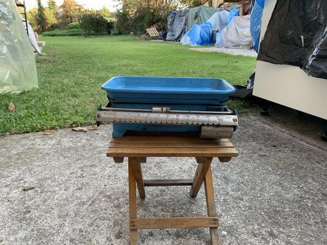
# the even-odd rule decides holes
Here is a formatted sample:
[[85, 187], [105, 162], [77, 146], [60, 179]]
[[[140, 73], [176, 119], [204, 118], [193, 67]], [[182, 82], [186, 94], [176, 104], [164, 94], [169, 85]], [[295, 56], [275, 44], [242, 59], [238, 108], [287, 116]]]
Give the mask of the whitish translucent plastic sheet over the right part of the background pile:
[[251, 46], [250, 15], [236, 16], [221, 32], [217, 33], [216, 44], [218, 48], [238, 48]]

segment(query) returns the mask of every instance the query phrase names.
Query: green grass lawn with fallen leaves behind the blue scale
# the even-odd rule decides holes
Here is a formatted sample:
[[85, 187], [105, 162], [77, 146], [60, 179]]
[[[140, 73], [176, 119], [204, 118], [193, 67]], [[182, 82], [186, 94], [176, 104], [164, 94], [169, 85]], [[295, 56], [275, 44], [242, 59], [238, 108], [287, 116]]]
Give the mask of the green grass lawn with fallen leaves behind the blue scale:
[[[179, 43], [129, 36], [42, 37], [46, 56], [37, 57], [39, 88], [0, 95], [0, 134], [40, 131], [95, 122], [106, 104], [101, 84], [117, 75], [199, 76], [246, 84], [255, 58], [188, 50]], [[8, 105], [16, 105], [14, 113]], [[241, 101], [231, 107], [243, 109]]]

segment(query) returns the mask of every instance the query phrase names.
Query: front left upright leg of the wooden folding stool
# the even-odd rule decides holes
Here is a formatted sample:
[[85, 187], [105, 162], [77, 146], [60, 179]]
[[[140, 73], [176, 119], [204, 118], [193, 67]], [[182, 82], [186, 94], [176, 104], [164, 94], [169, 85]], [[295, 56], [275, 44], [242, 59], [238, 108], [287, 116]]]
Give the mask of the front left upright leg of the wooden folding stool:
[[[136, 159], [137, 160], [137, 159]], [[137, 218], [136, 211], [136, 179], [133, 172], [133, 162], [135, 159], [128, 158], [128, 189], [129, 189], [129, 219]], [[137, 230], [129, 230], [130, 245], [137, 245]]]

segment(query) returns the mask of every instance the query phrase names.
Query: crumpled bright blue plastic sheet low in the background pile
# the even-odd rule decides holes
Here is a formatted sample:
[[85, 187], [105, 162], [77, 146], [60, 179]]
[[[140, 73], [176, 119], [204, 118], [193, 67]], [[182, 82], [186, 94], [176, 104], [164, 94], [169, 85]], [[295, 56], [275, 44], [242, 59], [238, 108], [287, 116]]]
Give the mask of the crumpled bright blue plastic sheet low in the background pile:
[[211, 33], [212, 25], [210, 22], [205, 22], [201, 25], [194, 24], [181, 39], [181, 44], [192, 46], [210, 45]]

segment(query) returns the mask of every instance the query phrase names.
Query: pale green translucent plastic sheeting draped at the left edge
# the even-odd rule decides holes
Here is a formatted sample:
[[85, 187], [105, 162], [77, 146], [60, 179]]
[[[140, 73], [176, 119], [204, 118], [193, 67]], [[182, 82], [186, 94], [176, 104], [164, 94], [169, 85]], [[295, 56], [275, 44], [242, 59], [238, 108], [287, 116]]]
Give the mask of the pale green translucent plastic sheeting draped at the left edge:
[[14, 0], [0, 1], [0, 94], [38, 87], [35, 55]]

